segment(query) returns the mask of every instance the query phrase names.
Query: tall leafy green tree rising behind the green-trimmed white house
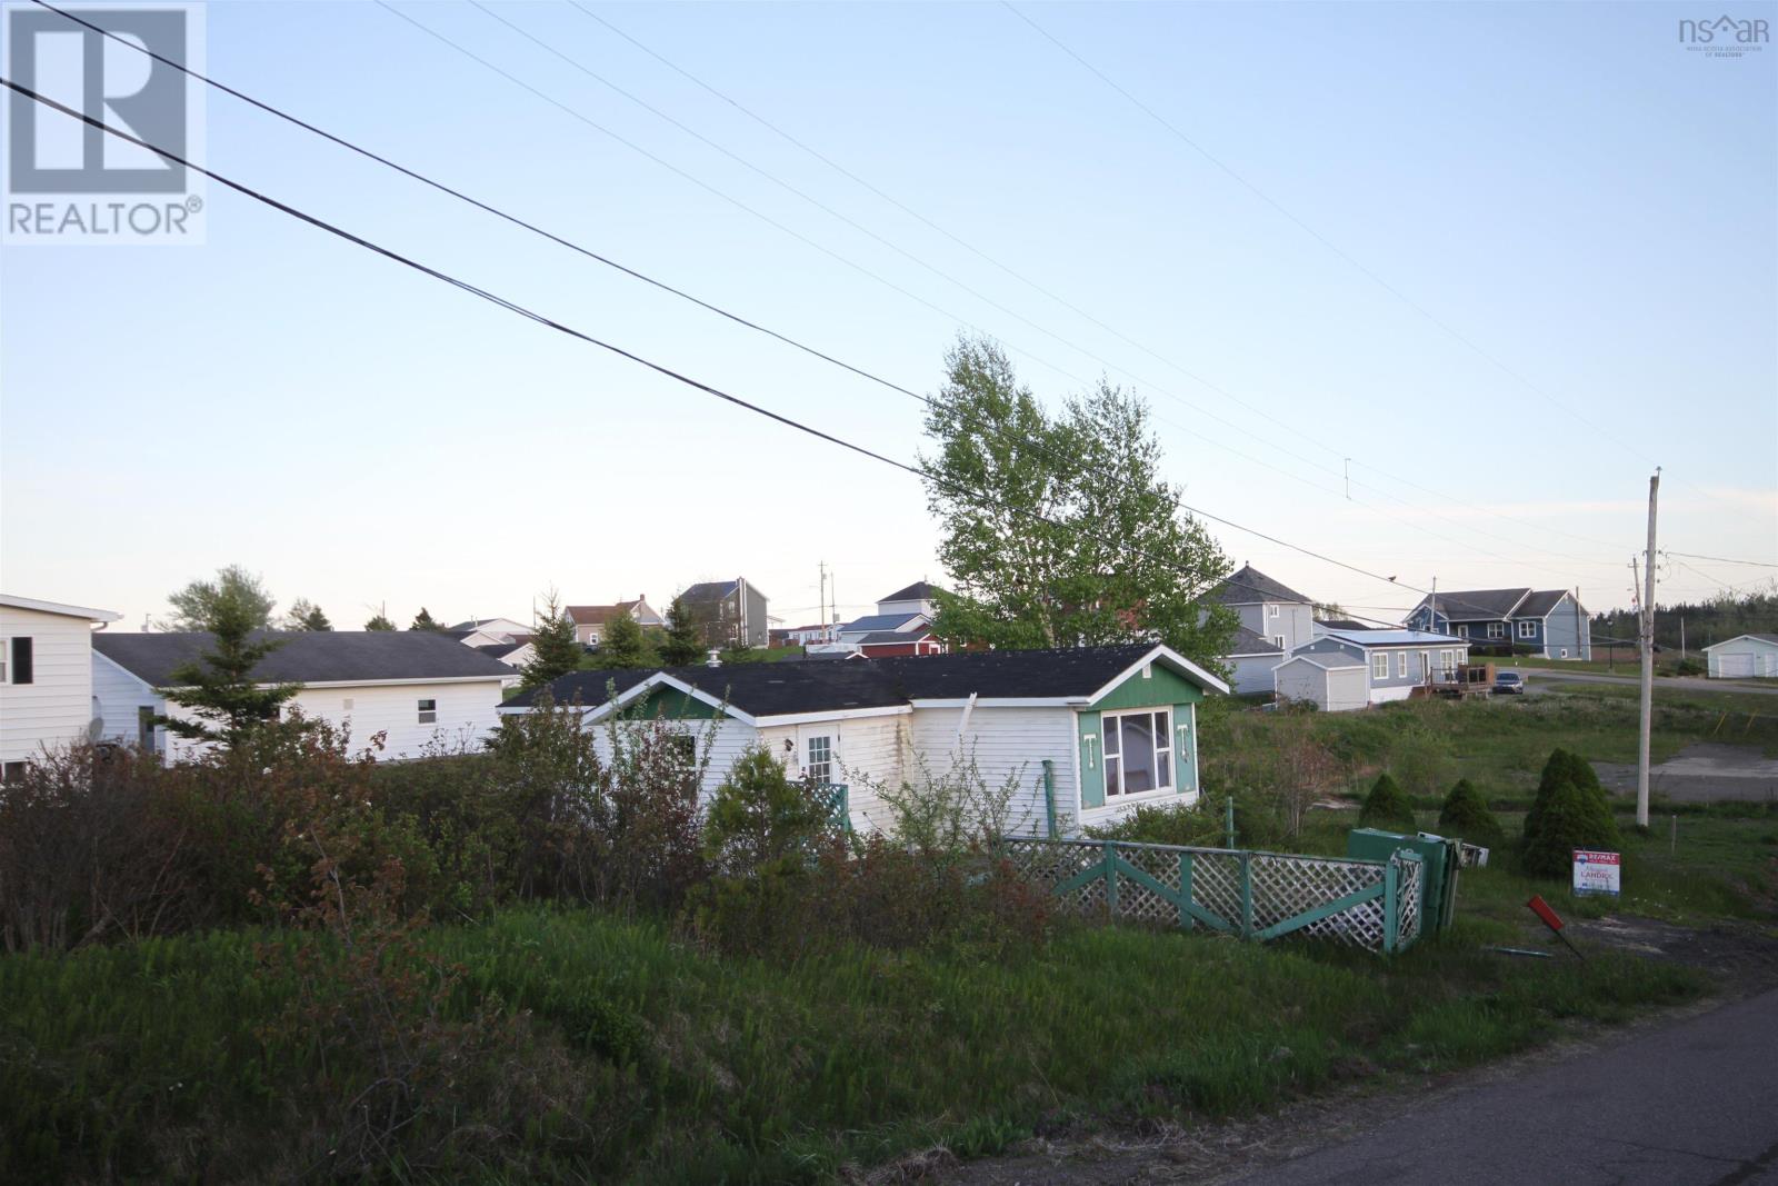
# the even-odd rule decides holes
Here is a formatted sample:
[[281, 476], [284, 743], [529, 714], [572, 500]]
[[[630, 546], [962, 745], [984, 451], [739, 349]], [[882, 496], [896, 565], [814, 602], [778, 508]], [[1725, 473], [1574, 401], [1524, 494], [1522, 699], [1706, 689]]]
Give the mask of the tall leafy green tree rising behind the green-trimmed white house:
[[1101, 381], [1047, 413], [1006, 354], [962, 338], [946, 356], [921, 455], [939, 519], [946, 638], [1069, 647], [1159, 638], [1220, 665], [1234, 613], [1207, 594], [1221, 548], [1161, 475], [1147, 404]]

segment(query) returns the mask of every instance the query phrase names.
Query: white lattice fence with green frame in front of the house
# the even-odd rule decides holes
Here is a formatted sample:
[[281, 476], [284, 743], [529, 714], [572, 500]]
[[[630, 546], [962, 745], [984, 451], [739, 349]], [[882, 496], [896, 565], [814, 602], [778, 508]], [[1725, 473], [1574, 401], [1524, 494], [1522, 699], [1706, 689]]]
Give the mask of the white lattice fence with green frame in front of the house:
[[1421, 934], [1424, 866], [1412, 852], [1342, 861], [1092, 839], [1008, 839], [1003, 852], [1065, 907], [1115, 923], [1259, 941], [1305, 934], [1369, 951], [1399, 951]]

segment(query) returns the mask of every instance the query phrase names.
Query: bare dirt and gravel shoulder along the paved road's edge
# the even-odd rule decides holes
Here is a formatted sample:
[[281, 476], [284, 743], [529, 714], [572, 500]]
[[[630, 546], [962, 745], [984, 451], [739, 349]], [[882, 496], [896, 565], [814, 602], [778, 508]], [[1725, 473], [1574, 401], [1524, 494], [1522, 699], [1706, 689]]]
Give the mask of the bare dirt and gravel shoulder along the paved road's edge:
[[862, 1181], [942, 1186], [1227, 1182], [1351, 1140], [1476, 1085], [1510, 1079], [1534, 1067], [1625, 1042], [1645, 1030], [1671, 1024], [1677, 1017], [1716, 1008], [1725, 996], [1737, 999], [1778, 983], [1778, 935], [1769, 928], [1725, 925], [1694, 930], [1643, 918], [1602, 918], [1572, 921], [1570, 932], [1582, 950], [1611, 946], [1707, 969], [1721, 992], [1629, 1026], [1584, 1028], [1563, 1042], [1481, 1069], [1435, 1076], [1396, 1074], [1387, 1083], [1366, 1079], [1245, 1120], [1042, 1136], [1010, 1156], [981, 1161], [946, 1163], [925, 1154], [903, 1165], [884, 1166]]

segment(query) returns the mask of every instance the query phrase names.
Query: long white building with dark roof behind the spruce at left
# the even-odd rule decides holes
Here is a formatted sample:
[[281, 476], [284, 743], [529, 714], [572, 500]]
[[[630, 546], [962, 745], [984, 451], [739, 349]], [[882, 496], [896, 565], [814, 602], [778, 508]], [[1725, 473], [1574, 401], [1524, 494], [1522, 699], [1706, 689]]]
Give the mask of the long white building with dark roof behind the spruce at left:
[[[496, 709], [514, 672], [450, 635], [420, 629], [297, 631], [260, 661], [267, 685], [299, 683], [290, 701], [304, 717], [350, 731], [354, 747], [382, 734], [379, 759], [418, 757], [434, 741], [475, 749], [500, 724]], [[174, 670], [212, 645], [206, 633], [94, 635], [92, 697], [101, 740], [153, 749], [167, 761], [192, 757], [188, 741], [156, 715], [187, 717], [167, 701]]]

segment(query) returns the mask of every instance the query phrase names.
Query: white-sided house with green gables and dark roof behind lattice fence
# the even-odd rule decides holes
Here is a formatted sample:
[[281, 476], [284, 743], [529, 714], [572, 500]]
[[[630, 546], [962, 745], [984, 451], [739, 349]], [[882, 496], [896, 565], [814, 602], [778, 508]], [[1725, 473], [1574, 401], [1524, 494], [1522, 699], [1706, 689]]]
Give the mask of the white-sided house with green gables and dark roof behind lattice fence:
[[[1197, 704], [1227, 690], [1156, 644], [574, 672], [549, 688], [590, 722], [622, 711], [708, 743], [706, 797], [765, 745], [795, 777], [848, 786], [852, 825], [884, 830], [873, 784], [973, 759], [989, 788], [1017, 784], [1008, 825], [1026, 834], [1047, 830], [1051, 805], [1070, 834], [1136, 804], [1197, 802]], [[532, 711], [533, 695], [500, 711]]]

